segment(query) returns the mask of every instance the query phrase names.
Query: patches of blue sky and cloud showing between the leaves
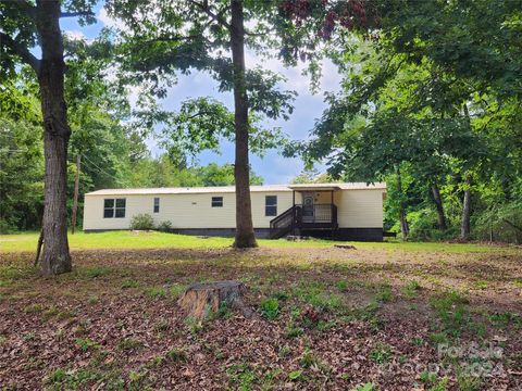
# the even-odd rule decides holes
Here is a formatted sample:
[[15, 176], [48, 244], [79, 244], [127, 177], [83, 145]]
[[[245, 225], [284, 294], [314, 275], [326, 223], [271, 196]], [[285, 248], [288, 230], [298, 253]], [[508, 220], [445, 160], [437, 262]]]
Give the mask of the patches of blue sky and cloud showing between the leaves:
[[[90, 26], [79, 26], [74, 18], [64, 18], [61, 21], [62, 29], [69, 35], [75, 37], [95, 38], [103, 26], [114, 25], [114, 21], [108, 17], [107, 13], [100, 7], [97, 8], [98, 23]], [[301, 75], [302, 67], [284, 68], [277, 60], [263, 62], [253, 54], [247, 53], [247, 67], [253, 67], [263, 63], [263, 67], [283, 74], [287, 81], [282, 85], [283, 89], [297, 91], [298, 96], [294, 102], [294, 113], [289, 121], [270, 122], [268, 126], [279, 126], [285, 134], [293, 139], [304, 139], [313, 127], [315, 118], [319, 118], [325, 109], [324, 92], [335, 91], [339, 88], [340, 77], [334, 65], [325, 63], [323, 65], [323, 77], [321, 80], [321, 91], [312, 94], [309, 89], [309, 78]], [[217, 91], [216, 83], [204, 73], [195, 72], [190, 75], [181, 75], [177, 85], [169, 89], [167, 98], [162, 100], [162, 105], [166, 110], [176, 110], [182, 101], [188, 98], [212, 97], [228, 108], [233, 108], [232, 93]], [[147, 140], [153, 154], [161, 153], [157, 147], [156, 140]], [[269, 151], [264, 157], [251, 155], [250, 157], [253, 171], [263, 177], [264, 184], [276, 185], [286, 184], [297, 176], [302, 169], [302, 162], [298, 159], [286, 159], [278, 155], [275, 151]], [[203, 152], [198, 156], [198, 163], [206, 165], [208, 163], [233, 163], [234, 148], [229, 142], [224, 142], [221, 154]]]

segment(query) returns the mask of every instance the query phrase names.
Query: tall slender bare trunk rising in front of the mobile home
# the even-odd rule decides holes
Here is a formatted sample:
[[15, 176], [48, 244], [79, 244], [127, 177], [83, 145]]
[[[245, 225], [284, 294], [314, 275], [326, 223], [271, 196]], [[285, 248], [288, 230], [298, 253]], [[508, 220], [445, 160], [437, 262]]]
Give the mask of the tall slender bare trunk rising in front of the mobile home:
[[231, 47], [234, 64], [234, 119], [236, 130], [236, 248], [257, 247], [250, 201], [248, 162], [248, 98], [245, 80], [245, 27], [243, 0], [231, 0]]

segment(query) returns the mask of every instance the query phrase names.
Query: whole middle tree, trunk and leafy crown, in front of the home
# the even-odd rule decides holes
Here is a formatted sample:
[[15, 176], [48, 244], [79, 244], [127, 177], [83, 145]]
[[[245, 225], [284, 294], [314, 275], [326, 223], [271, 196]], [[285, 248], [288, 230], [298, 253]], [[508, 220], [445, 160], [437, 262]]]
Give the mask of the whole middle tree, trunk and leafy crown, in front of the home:
[[[189, 72], [196, 68], [212, 75], [219, 81], [221, 91], [233, 92], [235, 245], [257, 245], [249, 190], [249, 146], [250, 133], [253, 129], [249, 111], [269, 118], [286, 116], [291, 112], [289, 100], [294, 93], [276, 88], [279, 80], [277, 75], [261, 67], [247, 70], [245, 49], [250, 47], [261, 52], [274, 46], [268, 28], [270, 17], [278, 8], [273, 3], [243, 0], [127, 0], [109, 2], [108, 7], [128, 28], [121, 31], [122, 50], [127, 60], [123, 70], [134, 72], [135, 81], [146, 81], [152, 86], [152, 90], [164, 96], [162, 81], [163, 86], [169, 85], [174, 81], [177, 71]], [[246, 24], [253, 27], [246, 29]], [[221, 110], [212, 102], [207, 104], [199, 100], [196, 103], [199, 104], [197, 112], [203, 113], [203, 117], [208, 109]], [[202, 106], [204, 108], [201, 109]], [[226, 119], [229, 117], [226, 113], [222, 114], [225, 114], [227, 123], [232, 119]], [[215, 143], [214, 135], [209, 137], [209, 133], [204, 133], [206, 128], [197, 128], [204, 133], [203, 136], [194, 135], [195, 128], [185, 129], [192, 136], [192, 144], [194, 138], [195, 141], [201, 141], [203, 147]], [[225, 126], [223, 130], [228, 133], [229, 126]], [[174, 139], [175, 143], [181, 141], [178, 137]]]

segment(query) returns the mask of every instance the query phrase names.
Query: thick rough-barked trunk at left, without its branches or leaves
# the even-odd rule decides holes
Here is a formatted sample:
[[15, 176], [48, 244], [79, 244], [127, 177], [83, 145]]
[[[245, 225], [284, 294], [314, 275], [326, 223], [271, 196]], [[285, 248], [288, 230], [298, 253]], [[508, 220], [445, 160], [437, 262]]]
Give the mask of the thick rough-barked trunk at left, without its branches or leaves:
[[71, 129], [64, 99], [65, 64], [60, 30], [60, 1], [38, 0], [36, 20], [41, 41], [38, 81], [46, 159], [40, 272], [44, 276], [49, 276], [71, 272], [72, 268], [66, 215], [66, 164]]

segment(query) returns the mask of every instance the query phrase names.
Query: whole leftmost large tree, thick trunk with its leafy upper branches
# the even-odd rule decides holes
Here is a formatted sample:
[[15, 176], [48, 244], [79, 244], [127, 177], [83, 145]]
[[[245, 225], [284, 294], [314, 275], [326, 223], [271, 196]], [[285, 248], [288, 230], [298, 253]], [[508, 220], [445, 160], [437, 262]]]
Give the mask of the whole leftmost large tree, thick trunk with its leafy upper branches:
[[[17, 0], [0, 2], [0, 77], [14, 75], [22, 65], [37, 76], [44, 123], [46, 162], [45, 240], [40, 273], [45, 276], [70, 272], [67, 243], [66, 161], [71, 128], [64, 97], [65, 62], [60, 17], [83, 16], [92, 22], [90, 1]], [[39, 47], [41, 59], [34, 54]]]

